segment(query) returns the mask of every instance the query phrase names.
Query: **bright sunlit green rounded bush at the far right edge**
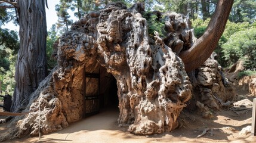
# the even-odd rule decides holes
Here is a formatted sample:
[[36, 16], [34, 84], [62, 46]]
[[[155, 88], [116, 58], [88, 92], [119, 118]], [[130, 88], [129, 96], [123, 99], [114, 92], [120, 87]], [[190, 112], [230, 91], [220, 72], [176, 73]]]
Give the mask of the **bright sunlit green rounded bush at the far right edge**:
[[256, 29], [246, 29], [230, 36], [222, 45], [224, 58], [229, 64], [245, 60], [246, 69], [256, 68]]

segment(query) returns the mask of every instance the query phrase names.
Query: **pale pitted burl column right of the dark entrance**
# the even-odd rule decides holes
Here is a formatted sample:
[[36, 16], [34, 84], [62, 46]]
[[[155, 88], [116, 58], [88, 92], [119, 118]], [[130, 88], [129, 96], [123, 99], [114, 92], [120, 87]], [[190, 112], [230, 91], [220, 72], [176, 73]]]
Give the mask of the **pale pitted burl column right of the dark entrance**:
[[177, 126], [192, 85], [181, 59], [157, 33], [150, 44], [147, 21], [138, 13], [141, 8], [143, 4], [135, 4], [98, 14], [99, 20], [101, 15], [109, 17], [97, 24], [97, 59], [117, 80], [118, 123], [132, 123], [128, 130], [133, 133], [161, 133]]

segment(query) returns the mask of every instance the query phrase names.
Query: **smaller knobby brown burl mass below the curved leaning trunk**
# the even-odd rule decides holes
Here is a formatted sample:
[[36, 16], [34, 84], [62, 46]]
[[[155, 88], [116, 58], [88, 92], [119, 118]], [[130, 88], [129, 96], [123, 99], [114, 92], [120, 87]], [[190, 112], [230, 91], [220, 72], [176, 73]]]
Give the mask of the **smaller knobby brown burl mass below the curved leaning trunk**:
[[193, 98], [187, 103], [190, 111], [197, 108], [202, 117], [210, 119], [213, 117], [211, 110], [233, 105], [235, 88], [221, 69], [216, 60], [208, 58], [202, 66], [189, 73], [193, 85]]

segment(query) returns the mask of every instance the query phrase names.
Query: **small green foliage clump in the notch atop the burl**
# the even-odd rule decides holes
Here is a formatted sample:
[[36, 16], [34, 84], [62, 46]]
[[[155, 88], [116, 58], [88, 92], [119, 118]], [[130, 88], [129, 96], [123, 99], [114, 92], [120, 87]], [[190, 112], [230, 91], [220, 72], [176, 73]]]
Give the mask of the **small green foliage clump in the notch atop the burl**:
[[164, 20], [161, 17], [158, 17], [156, 14], [153, 14], [152, 11], [147, 11], [143, 15], [147, 20], [148, 32], [150, 36], [154, 36], [154, 32], [158, 32], [159, 36], [164, 36]]

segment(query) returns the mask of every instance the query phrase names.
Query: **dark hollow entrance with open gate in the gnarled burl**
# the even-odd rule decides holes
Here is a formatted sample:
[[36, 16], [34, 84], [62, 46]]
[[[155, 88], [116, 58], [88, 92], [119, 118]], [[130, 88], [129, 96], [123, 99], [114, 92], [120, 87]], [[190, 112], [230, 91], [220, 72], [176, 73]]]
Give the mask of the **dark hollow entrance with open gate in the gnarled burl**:
[[100, 112], [105, 108], [118, 107], [116, 79], [104, 67], [93, 72], [84, 71], [84, 117]]

